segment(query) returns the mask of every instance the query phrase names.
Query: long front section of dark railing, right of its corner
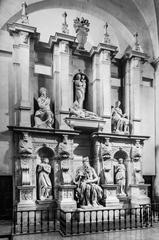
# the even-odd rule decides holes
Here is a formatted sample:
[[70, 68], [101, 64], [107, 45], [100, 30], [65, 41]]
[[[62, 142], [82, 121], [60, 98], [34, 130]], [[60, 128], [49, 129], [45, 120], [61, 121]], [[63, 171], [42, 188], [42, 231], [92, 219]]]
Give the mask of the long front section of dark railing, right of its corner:
[[65, 236], [152, 226], [151, 206], [131, 209], [60, 211], [60, 231]]

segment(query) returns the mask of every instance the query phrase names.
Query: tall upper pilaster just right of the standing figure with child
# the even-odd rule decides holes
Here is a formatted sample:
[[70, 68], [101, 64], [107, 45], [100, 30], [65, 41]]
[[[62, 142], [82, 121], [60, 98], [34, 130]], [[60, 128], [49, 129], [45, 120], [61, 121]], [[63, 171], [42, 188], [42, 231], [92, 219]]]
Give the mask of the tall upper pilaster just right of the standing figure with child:
[[[104, 132], [111, 132], [111, 57], [115, 55], [117, 47], [100, 43], [97, 48], [93, 48], [91, 54], [97, 59], [98, 65], [94, 70], [96, 78], [99, 76], [99, 84], [96, 88], [96, 103], [98, 114], [106, 119]], [[95, 54], [95, 55], [94, 55]]]

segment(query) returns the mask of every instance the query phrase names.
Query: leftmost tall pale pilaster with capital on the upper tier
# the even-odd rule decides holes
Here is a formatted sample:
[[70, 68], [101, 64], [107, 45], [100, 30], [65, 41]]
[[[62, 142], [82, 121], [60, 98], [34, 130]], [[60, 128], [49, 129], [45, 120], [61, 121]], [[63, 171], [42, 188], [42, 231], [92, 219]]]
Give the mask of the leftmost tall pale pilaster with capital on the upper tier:
[[13, 23], [8, 25], [8, 31], [13, 36], [13, 71], [15, 71], [15, 86], [17, 99], [15, 107], [17, 110], [16, 125], [30, 127], [31, 121], [31, 96], [30, 96], [30, 66], [31, 54], [34, 52], [32, 45], [39, 36], [36, 28]]

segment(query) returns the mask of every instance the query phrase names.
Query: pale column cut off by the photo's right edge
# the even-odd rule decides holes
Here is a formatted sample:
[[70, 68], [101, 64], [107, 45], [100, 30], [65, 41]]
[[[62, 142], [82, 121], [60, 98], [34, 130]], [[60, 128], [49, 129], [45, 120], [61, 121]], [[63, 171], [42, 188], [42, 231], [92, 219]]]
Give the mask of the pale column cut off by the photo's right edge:
[[156, 177], [155, 177], [155, 200], [159, 200], [159, 58], [154, 62], [155, 65], [155, 79], [154, 79], [154, 89], [155, 89], [155, 160], [156, 160]]

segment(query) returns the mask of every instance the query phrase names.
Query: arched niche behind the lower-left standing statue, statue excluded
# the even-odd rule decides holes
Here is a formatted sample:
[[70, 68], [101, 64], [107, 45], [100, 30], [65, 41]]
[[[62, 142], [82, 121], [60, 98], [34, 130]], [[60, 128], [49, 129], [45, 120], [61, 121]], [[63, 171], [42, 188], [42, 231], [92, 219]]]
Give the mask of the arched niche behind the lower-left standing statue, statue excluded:
[[[54, 198], [54, 165], [53, 165], [53, 159], [54, 159], [54, 151], [47, 147], [47, 146], [43, 146], [41, 148], [38, 149], [37, 151], [37, 166], [36, 166], [36, 194], [37, 194], [37, 199], [39, 199], [39, 166], [40, 164], [43, 163], [43, 161], [45, 161], [45, 159], [48, 159], [48, 165], [51, 166], [51, 171], [50, 173], [48, 173], [48, 177], [51, 180], [51, 186], [52, 186], [52, 190], [51, 190], [51, 196], [52, 199]], [[46, 178], [46, 183], [48, 183], [48, 180]]]

